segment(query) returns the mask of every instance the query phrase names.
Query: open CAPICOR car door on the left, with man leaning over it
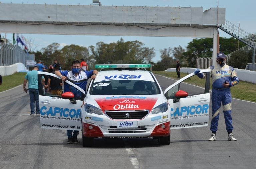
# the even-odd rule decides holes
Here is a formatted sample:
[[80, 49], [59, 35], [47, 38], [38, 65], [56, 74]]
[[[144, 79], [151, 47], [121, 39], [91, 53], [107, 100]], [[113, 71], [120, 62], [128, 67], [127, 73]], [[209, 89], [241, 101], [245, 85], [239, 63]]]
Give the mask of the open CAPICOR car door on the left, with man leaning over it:
[[[83, 105], [83, 99], [85, 97], [84, 90], [69, 81], [63, 84], [60, 80], [62, 85], [69, 85], [72, 93], [64, 93], [64, 91], [62, 91], [62, 96], [53, 94], [49, 92], [48, 89], [44, 89], [43, 81], [44, 79], [47, 81], [49, 78], [57, 78], [60, 80], [55, 74], [38, 72], [41, 128], [81, 130], [81, 106]], [[54, 80], [52, 80], [52, 82], [54, 82]], [[45, 82], [45, 84], [47, 85], [47, 82]]]

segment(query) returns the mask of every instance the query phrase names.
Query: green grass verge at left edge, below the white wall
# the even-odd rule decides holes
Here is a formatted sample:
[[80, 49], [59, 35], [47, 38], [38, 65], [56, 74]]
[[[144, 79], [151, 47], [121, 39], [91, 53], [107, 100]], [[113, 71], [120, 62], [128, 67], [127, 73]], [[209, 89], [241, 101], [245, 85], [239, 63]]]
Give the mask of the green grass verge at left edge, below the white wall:
[[[22, 85], [26, 74], [26, 72], [16, 72], [12, 75], [2, 76], [3, 83], [0, 85], [0, 92]], [[26, 88], [28, 88], [28, 85]]]

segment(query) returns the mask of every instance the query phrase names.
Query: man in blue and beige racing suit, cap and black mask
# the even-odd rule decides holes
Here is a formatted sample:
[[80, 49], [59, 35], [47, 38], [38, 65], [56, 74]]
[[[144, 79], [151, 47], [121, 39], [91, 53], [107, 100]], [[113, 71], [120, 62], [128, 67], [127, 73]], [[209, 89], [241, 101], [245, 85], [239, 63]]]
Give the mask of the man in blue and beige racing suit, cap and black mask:
[[[239, 79], [233, 67], [225, 64], [226, 56], [224, 53], [217, 54], [217, 66], [211, 66], [210, 75], [212, 77], [212, 121], [211, 137], [208, 141], [216, 141], [216, 131], [218, 129], [220, 106], [222, 102], [223, 113], [225, 118], [226, 130], [228, 131], [228, 141], [236, 141], [233, 136], [232, 130], [232, 117], [231, 117], [231, 92], [230, 87], [238, 84]], [[195, 74], [199, 78], [204, 78], [205, 74], [200, 73], [196, 69]]]

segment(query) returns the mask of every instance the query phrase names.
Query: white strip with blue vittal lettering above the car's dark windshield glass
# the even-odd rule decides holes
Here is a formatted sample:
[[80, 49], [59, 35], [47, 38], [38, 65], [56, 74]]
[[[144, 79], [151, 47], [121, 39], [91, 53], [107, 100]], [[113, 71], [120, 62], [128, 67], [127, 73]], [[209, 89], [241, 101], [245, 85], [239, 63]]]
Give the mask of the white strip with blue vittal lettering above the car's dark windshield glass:
[[100, 71], [97, 74], [97, 77], [94, 82], [99, 81], [109, 81], [109, 80], [143, 80], [143, 81], [152, 81], [153, 79], [150, 71], [145, 70], [104, 70]]

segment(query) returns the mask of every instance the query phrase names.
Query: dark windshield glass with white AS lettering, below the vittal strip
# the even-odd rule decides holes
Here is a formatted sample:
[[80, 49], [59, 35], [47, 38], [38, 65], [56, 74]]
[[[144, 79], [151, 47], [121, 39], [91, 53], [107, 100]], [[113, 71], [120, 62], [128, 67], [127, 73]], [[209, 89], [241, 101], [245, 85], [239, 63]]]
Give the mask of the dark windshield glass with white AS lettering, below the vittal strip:
[[156, 82], [143, 80], [109, 80], [93, 83], [91, 95], [151, 95], [160, 94]]

